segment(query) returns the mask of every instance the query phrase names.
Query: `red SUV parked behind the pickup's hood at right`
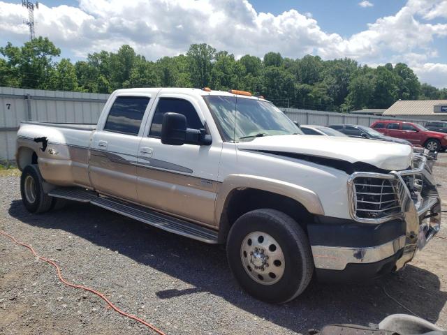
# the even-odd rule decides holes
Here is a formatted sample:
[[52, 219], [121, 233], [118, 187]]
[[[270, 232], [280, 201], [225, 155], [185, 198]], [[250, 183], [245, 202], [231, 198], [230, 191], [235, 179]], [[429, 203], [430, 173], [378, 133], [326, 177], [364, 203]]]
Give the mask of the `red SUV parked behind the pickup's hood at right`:
[[371, 125], [380, 133], [403, 138], [413, 144], [426, 147], [430, 151], [441, 151], [447, 149], [447, 135], [437, 131], [429, 131], [420, 124], [406, 121], [381, 120]]

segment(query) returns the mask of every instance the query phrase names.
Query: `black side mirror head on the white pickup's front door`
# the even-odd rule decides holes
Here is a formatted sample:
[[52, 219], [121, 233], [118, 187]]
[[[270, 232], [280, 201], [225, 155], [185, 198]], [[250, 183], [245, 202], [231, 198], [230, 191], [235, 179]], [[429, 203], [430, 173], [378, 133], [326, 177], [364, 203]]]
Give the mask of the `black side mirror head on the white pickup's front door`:
[[165, 113], [161, 124], [161, 143], [182, 145], [186, 142], [186, 117], [178, 113]]

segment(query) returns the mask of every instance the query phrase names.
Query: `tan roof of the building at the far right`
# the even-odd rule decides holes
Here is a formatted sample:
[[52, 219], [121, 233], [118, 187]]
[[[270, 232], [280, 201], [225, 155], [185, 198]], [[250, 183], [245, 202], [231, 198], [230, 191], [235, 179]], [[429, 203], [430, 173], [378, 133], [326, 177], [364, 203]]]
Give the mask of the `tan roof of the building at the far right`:
[[383, 115], [447, 115], [447, 112], [434, 112], [434, 107], [441, 105], [447, 106], [447, 100], [400, 100]]

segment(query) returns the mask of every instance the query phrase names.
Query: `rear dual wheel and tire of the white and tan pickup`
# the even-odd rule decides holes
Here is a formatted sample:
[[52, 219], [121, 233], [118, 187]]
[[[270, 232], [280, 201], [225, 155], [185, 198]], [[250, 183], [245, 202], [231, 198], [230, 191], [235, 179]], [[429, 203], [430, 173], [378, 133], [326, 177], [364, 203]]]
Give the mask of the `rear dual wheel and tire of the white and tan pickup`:
[[52, 205], [52, 197], [43, 191], [43, 178], [37, 165], [27, 165], [20, 177], [22, 202], [31, 213], [44, 213]]

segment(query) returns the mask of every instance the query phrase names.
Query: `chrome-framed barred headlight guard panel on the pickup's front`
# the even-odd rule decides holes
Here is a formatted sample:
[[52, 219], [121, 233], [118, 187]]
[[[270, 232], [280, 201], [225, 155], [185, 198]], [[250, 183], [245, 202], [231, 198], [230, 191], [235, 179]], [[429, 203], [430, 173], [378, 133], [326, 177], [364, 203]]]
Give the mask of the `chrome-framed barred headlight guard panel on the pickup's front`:
[[357, 218], [374, 221], [402, 213], [397, 179], [356, 177], [353, 195]]

